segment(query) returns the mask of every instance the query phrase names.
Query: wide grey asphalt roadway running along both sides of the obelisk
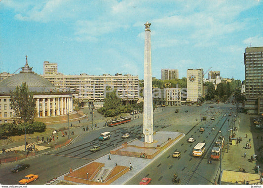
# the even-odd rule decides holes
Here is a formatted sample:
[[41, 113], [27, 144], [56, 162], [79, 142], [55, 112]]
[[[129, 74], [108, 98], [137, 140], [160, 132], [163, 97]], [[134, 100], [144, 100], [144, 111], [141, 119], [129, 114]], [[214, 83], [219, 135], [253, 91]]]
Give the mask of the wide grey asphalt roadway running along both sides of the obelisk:
[[[212, 183], [217, 173], [219, 162], [214, 161], [214, 163], [218, 163], [218, 165], [207, 164], [206, 158], [209, 152], [206, 153], [204, 160], [193, 158], [191, 156], [191, 149], [194, 144], [205, 141], [207, 151], [209, 151], [209, 146], [215, 137], [218, 136], [218, 130], [221, 129], [226, 119], [223, 114], [228, 114], [230, 106], [225, 104], [213, 105], [214, 108], [209, 108], [209, 106], [211, 106], [211, 104], [205, 104], [201, 107], [159, 107], [159, 109], [154, 112], [154, 131], [178, 131], [187, 135], [137, 176], [132, 178], [127, 184], [136, 185], [142, 177], [148, 174], [148, 177], [152, 178], [152, 184], [172, 184], [174, 173], [177, 173], [181, 178], [182, 184]], [[179, 109], [179, 113], [175, 113], [175, 109]], [[188, 112], [185, 112], [186, 109], [188, 109]], [[207, 121], [200, 121], [203, 116], [207, 116]], [[210, 120], [212, 116], [215, 117], [215, 120]], [[197, 121], [196, 118], [198, 119]], [[15, 185], [18, 184], [18, 181], [25, 175], [37, 174], [39, 175], [39, 180], [30, 183], [30, 185], [43, 185], [48, 180], [67, 173], [70, 167], [73, 169], [80, 167], [83, 164], [108, 154], [110, 150], [120, 146], [124, 141], [129, 141], [138, 137], [138, 135], [143, 135], [142, 121], [141, 117], [132, 120], [130, 123], [86, 132], [76, 138], [75, 141], [67, 147], [27, 160], [0, 165], [0, 183]], [[200, 133], [200, 127], [205, 127], [205, 132]], [[216, 128], [216, 131], [212, 130], [213, 127]], [[226, 128], [224, 129], [224, 127], [226, 126], [223, 126], [223, 135], [224, 133], [227, 134]], [[111, 139], [103, 142], [99, 141], [99, 134], [105, 131], [112, 133]], [[116, 133], [114, 133], [114, 131], [116, 131]], [[130, 133], [131, 136], [124, 140], [121, 138], [121, 135], [124, 133]], [[188, 143], [187, 139], [191, 136], [195, 137], [197, 141]], [[94, 145], [100, 146], [101, 150], [95, 153], [90, 152], [90, 148]], [[182, 152], [179, 159], [171, 157], [175, 150]], [[30, 164], [30, 168], [18, 173], [12, 173], [10, 169], [18, 163], [28, 163]]]

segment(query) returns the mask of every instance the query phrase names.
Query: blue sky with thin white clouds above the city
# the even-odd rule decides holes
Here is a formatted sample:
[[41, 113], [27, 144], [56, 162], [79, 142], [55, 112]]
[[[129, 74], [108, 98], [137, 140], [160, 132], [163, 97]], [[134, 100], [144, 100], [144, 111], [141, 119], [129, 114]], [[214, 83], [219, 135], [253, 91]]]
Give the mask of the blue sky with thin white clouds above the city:
[[[43, 62], [63, 74], [144, 74], [151, 23], [152, 76], [161, 69], [220, 71], [245, 79], [246, 47], [263, 46], [262, 0], [1, 0], [0, 72]], [[208, 74], [205, 75], [208, 77]]]

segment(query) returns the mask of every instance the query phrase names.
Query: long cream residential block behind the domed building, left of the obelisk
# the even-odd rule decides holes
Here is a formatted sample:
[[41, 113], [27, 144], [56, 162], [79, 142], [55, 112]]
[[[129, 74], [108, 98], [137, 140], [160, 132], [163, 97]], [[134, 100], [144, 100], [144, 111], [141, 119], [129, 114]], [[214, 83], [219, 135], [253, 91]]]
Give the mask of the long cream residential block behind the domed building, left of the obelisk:
[[139, 77], [129, 74], [103, 74], [102, 76], [87, 75], [41, 75], [56, 87], [61, 89], [74, 89], [78, 92], [75, 96], [79, 99], [81, 106], [102, 106], [106, 92], [115, 89], [122, 100], [138, 100]]

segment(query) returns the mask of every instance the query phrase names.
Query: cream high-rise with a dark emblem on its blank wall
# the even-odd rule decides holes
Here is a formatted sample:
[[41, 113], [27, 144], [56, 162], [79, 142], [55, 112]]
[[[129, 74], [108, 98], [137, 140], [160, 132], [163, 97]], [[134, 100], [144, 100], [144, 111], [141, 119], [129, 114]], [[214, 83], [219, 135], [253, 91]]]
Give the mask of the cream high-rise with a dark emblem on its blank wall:
[[187, 70], [187, 101], [199, 102], [203, 97], [203, 69]]

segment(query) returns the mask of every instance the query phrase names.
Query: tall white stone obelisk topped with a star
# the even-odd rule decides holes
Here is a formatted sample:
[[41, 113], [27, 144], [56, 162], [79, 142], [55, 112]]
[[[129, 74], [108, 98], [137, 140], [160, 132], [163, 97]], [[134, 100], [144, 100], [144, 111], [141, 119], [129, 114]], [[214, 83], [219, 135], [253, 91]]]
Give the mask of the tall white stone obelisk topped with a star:
[[153, 110], [152, 110], [152, 83], [151, 83], [151, 49], [150, 23], [145, 24], [144, 40], [144, 142], [153, 142]]

